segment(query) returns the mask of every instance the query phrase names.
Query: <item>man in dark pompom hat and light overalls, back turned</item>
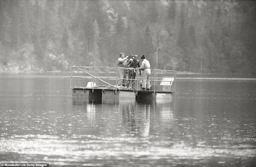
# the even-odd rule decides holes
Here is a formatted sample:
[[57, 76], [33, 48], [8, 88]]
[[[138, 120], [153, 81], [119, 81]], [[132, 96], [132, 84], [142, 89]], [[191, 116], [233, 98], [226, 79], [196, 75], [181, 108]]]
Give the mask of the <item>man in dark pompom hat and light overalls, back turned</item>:
[[150, 82], [149, 82], [150, 74], [151, 74], [150, 63], [145, 58], [144, 55], [141, 56], [141, 60], [142, 60], [141, 67], [139, 67], [138, 69], [143, 71], [143, 74], [142, 74], [142, 90], [150, 90]]

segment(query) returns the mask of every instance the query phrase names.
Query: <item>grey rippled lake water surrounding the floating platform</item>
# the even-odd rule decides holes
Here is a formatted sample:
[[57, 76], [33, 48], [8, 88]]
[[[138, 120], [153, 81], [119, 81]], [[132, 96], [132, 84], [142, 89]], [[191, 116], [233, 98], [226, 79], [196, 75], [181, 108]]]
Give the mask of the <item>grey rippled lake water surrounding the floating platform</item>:
[[1, 74], [0, 161], [255, 166], [256, 81], [175, 84], [165, 103], [74, 103], [67, 74]]

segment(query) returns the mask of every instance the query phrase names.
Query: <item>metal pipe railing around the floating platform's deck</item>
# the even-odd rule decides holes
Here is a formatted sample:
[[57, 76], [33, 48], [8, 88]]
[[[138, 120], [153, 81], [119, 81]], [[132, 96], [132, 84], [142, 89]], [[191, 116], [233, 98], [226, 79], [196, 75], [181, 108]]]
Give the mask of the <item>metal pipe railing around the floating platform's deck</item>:
[[[76, 69], [79, 69], [79, 71], [82, 71], [88, 75], [90, 75], [90, 77], [84, 77], [84, 76], [73, 76], [73, 68], [76, 68]], [[88, 72], [86, 71], [87, 69], [90, 69], [91, 72]], [[72, 66], [72, 69], [71, 69], [71, 82], [70, 82], [70, 87], [71, 87], [71, 83], [72, 83], [72, 78], [85, 78], [85, 79], [90, 79], [91, 82], [94, 83], [94, 80], [97, 79], [97, 80], [100, 80], [112, 87], [114, 87], [115, 90], [118, 89], [118, 86], [117, 86], [117, 80], [119, 79], [125, 79], [125, 80], [134, 80], [134, 81], [137, 81], [137, 90], [139, 88], [139, 81], [142, 81], [141, 79], [138, 79], [138, 74], [136, 75], [137, 76], [137, 79], [134, 78], [134, 79], [128, 79], [128, 78], [118, 78], [118, 69], [129, 69], [129, 70], [137, 70], [138, 72], [138, 69], [136, 68], [121, 68], [121, 67], [84, 67], [84, 66]], [[108, 77], [96, 77], [95, 76], [95, 73], [98, 72], [98, 71], [102, 71], [104, 70], [105, 72], [108, 72]], [[110, 76], [110, 73], [116, 73], [116, 77], [113, 77], [113, 76]], [[162, 74], [161, 74], [162, 73]], [[176, 74], [175, 74], [175, 71], [174, 70], [151, 70], [151, 76], [150, 76], [150, 82], [151, 84], [154, 83], [154, 91], [155, 91], [155, 85], [160, 85], [160, 83], [162, 82], [169, 82], [169, 81], [163, 81], [163, 80], [160, 80], [160, 78], [163, 78], [163, 75], [167, 75], [165, 77], [170, 77], [172, 78], [171, 82], [170, 82], [170, 85], [172, 85], [172, 82], [174, 82], [174, 92], [175, 92], [175, 78], [176, 78]], [[169, 76], [171, 75], [171, 76]], [[141, 78], [141, 77], [140, 77]], [[104, 81], [104, 80], [108, 80], [108, 82]], [[111, 80], [115, 80], [115, 85], [112, 85], [110, 84], [110, 81]], [[135, 84], [134, 84], [135, 85]], [[92, 87], [93, 88], [93, 87]]]

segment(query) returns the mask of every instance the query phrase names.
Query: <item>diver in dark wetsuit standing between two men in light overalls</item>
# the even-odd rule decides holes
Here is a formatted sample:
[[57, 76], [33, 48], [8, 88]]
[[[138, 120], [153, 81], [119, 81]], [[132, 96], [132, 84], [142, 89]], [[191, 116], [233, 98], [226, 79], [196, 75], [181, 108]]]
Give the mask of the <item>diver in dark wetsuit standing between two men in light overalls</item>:
[[[129, 59], [126, 63], [126, 68], [137, 68], [137, 67], [141, 67], [139, 65], [139, 60], [138, 60], [138, 56], [135, 55], [134, 56], [134, 59]], [[126, 72], [127, 73], [127, 72]], [[141, 75], [141, 70], [139, 71], [139, 74]], [[132, 86], [133, 86], [133, 89], [134, 89], [134, 81], [135, 81], [135, 77], [136, 77], [136, 69], [132, 69], [132, 70], [129, 70], [128, 72], [128, 79], [132, 79], [132, 80], [128, 80], [127, 81], [127, 88], [129, 87], [130, 85], [130, 81], [132, 81]]]

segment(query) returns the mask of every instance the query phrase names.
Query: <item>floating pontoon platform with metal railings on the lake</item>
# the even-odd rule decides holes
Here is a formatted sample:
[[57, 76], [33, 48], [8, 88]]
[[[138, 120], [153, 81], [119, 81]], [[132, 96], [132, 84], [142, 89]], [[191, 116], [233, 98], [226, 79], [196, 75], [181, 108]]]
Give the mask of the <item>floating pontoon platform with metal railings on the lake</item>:
[[[148, 102], [148, 101], [156, 101], [156, 102], [169, 102], [173, 100], [175, 95], [175, 71], [171, 70], [151, 70], [151, 80], [150, 82], [153, 84], [151, 85], [151, 90], [139, 90], [141, 85], [139, 85], [138, 78], [135, 78], [134, 87], [136, 89], [126, 89], [126, 87], [116, 86], [119, 79], [117, 76], [118, 69], [115, 67], [77, 67], [72, 66], [72, 69], [76, 67], [77, 69], [81, 70], [88, 76], [71, 76], [71, 82], [73, 78], [83, 79], [84, 81], [88, 81], [86, 87], [82, 86], [75, 86], [70, 87], [72, 89], [72, 98], [77, 99], [79, 98], [81, 101], [84, 102], [102, 102], [102, 103], [133, 103], [136, 100], [141, 102]], [[108, 69], [109, 74], [108, 77], [96, 77], [97, 70], [96, 68], [104, 68]], [[86, 69], [92, 70], [91, 73], [85, 71]], [[128, 68], [129, 69], [129, 68]], [[116, 77], [110, 77], [110, 70], [115, 70]], [[158, 72], [158, 74], [156, 74]], [[164, 75], [162, 76], [161, 72]], [[113, 72], [112, 72], [113, 73]], [[174, 76], [170, 76], [170, 73]], [[112, 74], [113, 75], [113, 74]], [[157, 76], [157, 77], [156, 77]], [[161, 78], [161, 80], [160, 80]], [[100, 82], [107, 83], [110, 86], [96, 86], [94, 80], [100, 80]], [[104, 81], [107, 80], [107, 81]], [[127, 79], [129, 80], [129, 79]], [[89, 82], [91, 81], [91, 82]], [[114, 82], [114, 83], [113, 83]], [[72, 85], [72, 83], [71, 83]]]

